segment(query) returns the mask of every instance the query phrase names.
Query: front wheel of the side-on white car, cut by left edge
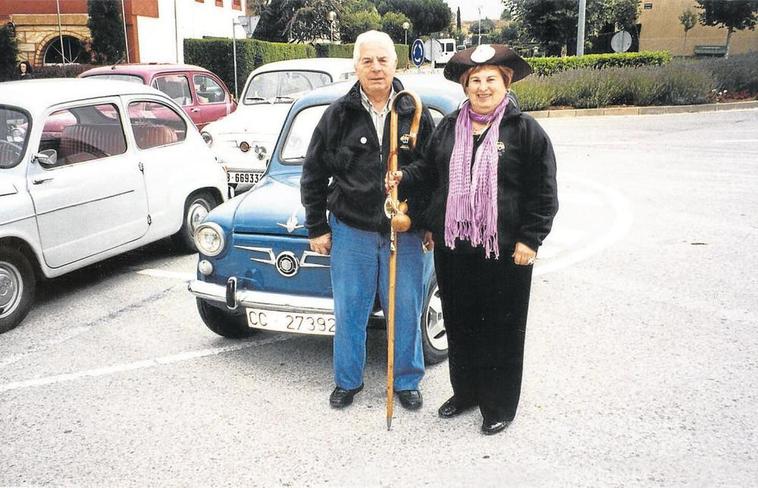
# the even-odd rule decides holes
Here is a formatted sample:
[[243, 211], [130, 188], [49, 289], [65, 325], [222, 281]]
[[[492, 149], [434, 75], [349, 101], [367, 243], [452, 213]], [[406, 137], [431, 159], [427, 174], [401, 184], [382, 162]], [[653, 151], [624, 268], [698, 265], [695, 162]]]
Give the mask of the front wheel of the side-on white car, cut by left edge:
[[32, 307], [37, 278], [29, 259], [15, 247], [0, 246], [0, 333], [16, 327]]

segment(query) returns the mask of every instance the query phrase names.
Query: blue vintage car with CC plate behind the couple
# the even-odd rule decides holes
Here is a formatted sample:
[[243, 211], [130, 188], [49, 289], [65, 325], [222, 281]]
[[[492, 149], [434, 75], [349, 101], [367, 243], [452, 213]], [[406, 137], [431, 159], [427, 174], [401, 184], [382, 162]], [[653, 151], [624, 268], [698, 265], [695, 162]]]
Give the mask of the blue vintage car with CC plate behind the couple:
[[[460, 85], [439, 75], [400, 79], [421, 96], [435, 124], [464, 99]], [[296, 101], [265, 176], [249, 192], [216, 207], [198, 226], [197, 279], [189, 290], [203, 321], [217, 334], [239, 338], [259, 329], [334, 334], [329, 256], [308, 246], [300, 175], [321, 115], [350, 86], [330, 85]], [[447, 357], [447, 336], [432, 253], [426, 255], [425, 282], [424, 357], [433, 364]], [[375, 315], [381, 317], [378, 306]]]

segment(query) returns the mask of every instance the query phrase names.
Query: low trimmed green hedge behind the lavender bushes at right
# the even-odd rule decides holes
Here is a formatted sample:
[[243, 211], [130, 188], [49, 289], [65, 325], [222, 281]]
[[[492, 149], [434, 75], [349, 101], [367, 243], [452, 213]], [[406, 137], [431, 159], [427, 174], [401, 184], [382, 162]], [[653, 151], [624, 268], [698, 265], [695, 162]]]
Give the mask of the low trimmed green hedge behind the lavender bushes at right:
[[586, 54], [563, 58], [527, 58], [534, 73], [550, 76], [572, 69], [604, 69], [612, 67], [660, 66], [671, 61], [668, 51], [642, 51], [639, 53]]

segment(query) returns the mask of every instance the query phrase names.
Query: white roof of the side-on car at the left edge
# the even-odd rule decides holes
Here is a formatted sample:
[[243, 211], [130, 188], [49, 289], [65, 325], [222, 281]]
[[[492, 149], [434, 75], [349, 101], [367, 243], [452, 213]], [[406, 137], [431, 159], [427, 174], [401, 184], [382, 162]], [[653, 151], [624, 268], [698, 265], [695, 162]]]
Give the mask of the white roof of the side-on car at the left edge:
[[160, 95], [147, 85], [128, 81], [82, 78], [45, 78], [2, 83], [0, 104], [21, 107], [32, 113], [52, 105], [113, 95]]

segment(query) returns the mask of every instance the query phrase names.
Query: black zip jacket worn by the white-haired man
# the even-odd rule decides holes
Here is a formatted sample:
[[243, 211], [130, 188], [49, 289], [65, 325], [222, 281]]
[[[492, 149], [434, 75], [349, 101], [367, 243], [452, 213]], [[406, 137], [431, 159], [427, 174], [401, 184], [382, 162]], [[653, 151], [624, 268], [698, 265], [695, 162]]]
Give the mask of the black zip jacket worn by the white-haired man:
[[[393, 80], [392, 86], [396, 93], [403, 90], [403, 85], [397, 78]], [[398, 100], [396, 110], [398, 137], [401, 137], [410, 128], [414, 112], [412, 99], [403, 97]], [[300, 197], [305, 207], [305, 227], [309, 237], [318, 237], [331, 231], [326, 219], [327, 209], [352, 227], [389, 232], [389, 219], [384, 214], [389, 124], [388, 114], [380, 152], [371, 116], [361, 103], [359, 83], [326, 109], [313, 132], [300, 178]], [[431, 136], [432, 129], [431, 114], [424, 107], [417, 146]], [[398, 167], [403, 168], [418, 157], [417, 151], [400, 149]], [[331, 182], [329, 178], [332, 178]], [[411, 220], [418, 221], [419, 212], [428, 204], [429, 194], [419, 188], [409, 192], [400, 191], [398, 198], [401, 201], [408, 200]]]

